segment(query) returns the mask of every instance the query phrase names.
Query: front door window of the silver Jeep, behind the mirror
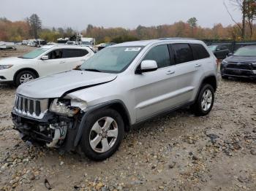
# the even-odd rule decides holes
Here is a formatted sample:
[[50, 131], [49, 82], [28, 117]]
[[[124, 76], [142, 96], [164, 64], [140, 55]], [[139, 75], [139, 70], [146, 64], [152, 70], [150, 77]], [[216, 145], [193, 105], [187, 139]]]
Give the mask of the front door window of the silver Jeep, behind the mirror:
[[146, 60], [156, 61], [159, 69], [170, 66], [170, 55], [167, 44], [159, 45], [149, 50], [149, 52], [143, 58], [143, 61]]

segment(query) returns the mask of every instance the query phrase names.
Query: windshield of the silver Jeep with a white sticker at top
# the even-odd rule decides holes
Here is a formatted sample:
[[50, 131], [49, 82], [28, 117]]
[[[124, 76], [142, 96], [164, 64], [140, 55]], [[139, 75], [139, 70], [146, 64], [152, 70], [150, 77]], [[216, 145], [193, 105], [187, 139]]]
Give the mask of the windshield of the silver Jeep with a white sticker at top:
[[80, 67], [81, 70], [119, 73], [127, 69], [143, 47], [109, 47], [97, 52]]

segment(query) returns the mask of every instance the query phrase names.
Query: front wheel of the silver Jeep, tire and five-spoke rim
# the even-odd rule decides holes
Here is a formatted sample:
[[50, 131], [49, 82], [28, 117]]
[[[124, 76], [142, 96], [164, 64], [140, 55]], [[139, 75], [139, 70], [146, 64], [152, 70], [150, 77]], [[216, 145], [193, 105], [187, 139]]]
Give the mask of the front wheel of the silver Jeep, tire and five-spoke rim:
[[[108, 123], [109, 128], [106, 125]], [[105, 160], [116, 152], [124, 137], [124, 121], [116, 110], [99, 109], [89, 114], [84, 125], [80, 149], [86, 157], [97, 161]], [[106, 130], [103, 132], [104, 127]]]

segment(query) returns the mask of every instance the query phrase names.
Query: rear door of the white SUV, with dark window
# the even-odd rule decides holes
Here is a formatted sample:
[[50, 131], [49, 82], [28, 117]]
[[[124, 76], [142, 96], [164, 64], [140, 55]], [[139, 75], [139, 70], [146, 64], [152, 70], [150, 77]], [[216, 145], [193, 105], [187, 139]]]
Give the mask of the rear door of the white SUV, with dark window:
[[71, 70], [86, 61], [89, 58], [89, 52], [85, 49], [65, 48], [63, 56], [66, 70]]

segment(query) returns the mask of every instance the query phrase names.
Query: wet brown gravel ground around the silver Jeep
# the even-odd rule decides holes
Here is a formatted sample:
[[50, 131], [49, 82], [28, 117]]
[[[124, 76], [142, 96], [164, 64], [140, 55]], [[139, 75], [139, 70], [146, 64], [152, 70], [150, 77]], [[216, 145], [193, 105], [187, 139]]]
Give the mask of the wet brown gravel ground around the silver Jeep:
[[10, 118], [14, 95], [15, 87], [0, 85], [0, 190], [256, 188], [255, 82], [220, 79], [208, 116], [181, 109], [145, 122], [98, 163], [20, 141]]

